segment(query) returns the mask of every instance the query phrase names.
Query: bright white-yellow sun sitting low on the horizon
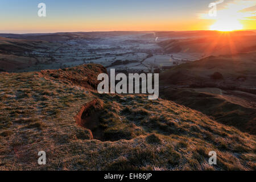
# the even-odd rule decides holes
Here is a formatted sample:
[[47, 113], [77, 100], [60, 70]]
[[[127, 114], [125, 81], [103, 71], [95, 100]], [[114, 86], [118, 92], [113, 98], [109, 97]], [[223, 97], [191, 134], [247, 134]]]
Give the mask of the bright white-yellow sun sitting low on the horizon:
[[235, 19], [218, 19], [212, 26], [210, 26], [210, 30], [217, 31], [234, 31], [242, 29], [242, 24]]

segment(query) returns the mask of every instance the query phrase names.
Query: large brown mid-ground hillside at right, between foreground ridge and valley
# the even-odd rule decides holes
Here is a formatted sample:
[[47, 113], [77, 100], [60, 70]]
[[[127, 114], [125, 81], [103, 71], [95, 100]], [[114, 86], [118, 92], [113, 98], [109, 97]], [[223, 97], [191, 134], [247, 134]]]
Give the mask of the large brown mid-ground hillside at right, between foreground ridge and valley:
[[256, 52], [210, 56], [160, 75], [169, 100], [256, 134]]

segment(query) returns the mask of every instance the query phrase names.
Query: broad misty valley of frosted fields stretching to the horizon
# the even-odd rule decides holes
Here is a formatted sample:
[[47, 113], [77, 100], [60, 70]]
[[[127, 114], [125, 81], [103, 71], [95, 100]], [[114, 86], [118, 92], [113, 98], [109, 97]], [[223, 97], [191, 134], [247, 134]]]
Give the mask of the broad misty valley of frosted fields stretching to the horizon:
[[[174, 65], [210, 55], [236, 53], [227, 49], [229, 40], [225, 40], [221, 45], [213, 41], [216, 36], [220, 39], [222, 36], [226, 38], [226, 35], [217, 33], [212, 35], [212, 32], [207, 31], [204, 34], [199, 34], [200, 31], [196, 34], [193, 32], [176, 32], [175, 35], [169, 35], [167, 33], [0, 34], [0, 36], [5, 36], [0, 42], [0, 47], [2, 47], [0, 69], [27, 72], [96, 63], [126, 72], [154, 72], [154, 70], [168, 69]], [[237, 44], [240, 45], [238, 48], [240, 52], [245, 52], [246, 49], [255, 49], [255, 32], [238, 32], [231, 36], [234, 36], [237, 41], [240, 39], [250, 40], [250, 44], [247, 46]], [[180, 47], [180, 45], [187, 45], [187, 47]], [[207, 45], [212, 48], [209, 50], [202, 49]], [[216, 50], [218, 54], [214, 53]], [[24, 57], [27, 57], [30, 62], [24, 61]]]

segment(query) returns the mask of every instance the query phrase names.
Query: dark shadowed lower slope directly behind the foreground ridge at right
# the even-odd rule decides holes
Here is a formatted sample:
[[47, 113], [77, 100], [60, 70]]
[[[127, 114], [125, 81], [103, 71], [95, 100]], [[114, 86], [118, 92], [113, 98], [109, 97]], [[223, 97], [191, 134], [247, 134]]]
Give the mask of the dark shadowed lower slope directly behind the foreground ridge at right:
[[[212, 88], [206, 88], [212, 89]], [[221, 91], [225, 93], [224, 90]], [[237, 127], [241, 131], [255, 134], [256, 109], [249, 106], [243, 106], [239, 102], [234, 103], [229, 96], [220, 94], [210, 94], [208, 91], [182, 88], [164, 89], [160, 94], [165, 95], [166, 99], [175, 101], [177, 104], [201, 111], [202, 113], [213, 117], [216, 121]], [[243, 101], [243, 100], [242, 100]]]

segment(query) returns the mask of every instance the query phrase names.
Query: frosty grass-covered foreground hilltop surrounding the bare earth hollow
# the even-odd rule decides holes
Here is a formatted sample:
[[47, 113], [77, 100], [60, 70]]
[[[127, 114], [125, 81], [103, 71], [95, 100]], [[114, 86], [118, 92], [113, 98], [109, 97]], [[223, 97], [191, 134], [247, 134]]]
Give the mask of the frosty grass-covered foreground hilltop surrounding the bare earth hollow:
[[[100, 95], [36, 72], [0, 74], [2, 170], [255, 170], [255, 136], [198, 111], [144, 95]], [[104, 106], [102, 132], [113, 142], [90, 139], [76, 123], [82, 105], [94, 99]], [[46, 166], [37, 163], [41, 150]], [[216, 166], [208, 164], [212, 150]]]

